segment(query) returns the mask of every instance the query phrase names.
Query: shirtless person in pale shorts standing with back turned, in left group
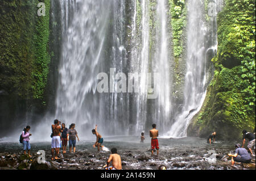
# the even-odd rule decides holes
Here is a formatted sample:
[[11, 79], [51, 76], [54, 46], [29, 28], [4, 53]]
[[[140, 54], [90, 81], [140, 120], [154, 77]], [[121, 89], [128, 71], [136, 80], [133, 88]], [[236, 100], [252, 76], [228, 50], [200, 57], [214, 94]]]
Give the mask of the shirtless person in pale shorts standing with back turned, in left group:
[[52, 125], [52, 160], [55, 150], [55, 159], [60, 159], [58, 157], [60, 152], [60, 125], [59, 120], [54, 120], [54, 124]]

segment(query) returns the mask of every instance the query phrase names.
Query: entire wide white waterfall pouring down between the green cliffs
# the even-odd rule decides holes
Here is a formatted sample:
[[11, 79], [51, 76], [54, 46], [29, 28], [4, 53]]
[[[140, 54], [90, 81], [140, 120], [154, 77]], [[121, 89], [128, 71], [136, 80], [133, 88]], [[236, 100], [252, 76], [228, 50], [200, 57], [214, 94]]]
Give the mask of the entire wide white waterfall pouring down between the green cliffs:
[[[180, 112], [173, 111], [177, 103], [172, 95], [175, 75], [167, 0], [59, 2], [63, 36], [59, 83], [55, 115], [44, 118], [46, 127], [59, 119], [66, 125], [75, 123], [81, 136], [90, 134], [95, 124], [104, 135], [138, 135], [156, 123], [162, 135], [186, 136], [212, 76], [207, 53], [217, 48], [216, 16], [207, 23], [204, 1], [187, 2], [187, 73]], [[156, 99], [148, 99], [152, 88], [148, 72], [158, 73], [151, 77], [157, 83]], [[109, 92], [97, 91], [99, 73], [114, 80], [108, 80]], [[139, 92], [117, 92], [122, 77], [117, 75], [129, 73], [143, 73]], [[128, 77], [129, 81], [133, 80]]]

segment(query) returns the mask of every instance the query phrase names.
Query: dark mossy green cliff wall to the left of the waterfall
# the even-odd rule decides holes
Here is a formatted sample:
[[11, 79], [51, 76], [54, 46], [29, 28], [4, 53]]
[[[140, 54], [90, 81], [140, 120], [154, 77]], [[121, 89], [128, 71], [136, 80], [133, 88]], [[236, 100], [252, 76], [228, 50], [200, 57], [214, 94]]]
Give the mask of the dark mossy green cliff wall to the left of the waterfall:
[[[46, 16], [38, 16], [38, 3]], [[43, 103], [47, 83], [50, 0], [0, 2], [0, 90]]]

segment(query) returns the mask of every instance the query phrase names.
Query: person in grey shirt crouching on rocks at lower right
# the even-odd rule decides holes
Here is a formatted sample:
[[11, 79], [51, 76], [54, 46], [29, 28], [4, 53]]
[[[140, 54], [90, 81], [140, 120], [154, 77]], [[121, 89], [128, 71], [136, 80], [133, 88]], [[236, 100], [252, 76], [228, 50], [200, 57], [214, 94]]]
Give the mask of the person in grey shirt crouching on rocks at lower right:
[[229, 157], [232, 157], [231, 162], [232, 166], [235, 162], [240, 163], [250, 163], [251, 162], [251, 156], [248, 153], [248, 151], [245, 148], [241, 148], [240, 144], [236, 144], [236, 154], [228, 154]]

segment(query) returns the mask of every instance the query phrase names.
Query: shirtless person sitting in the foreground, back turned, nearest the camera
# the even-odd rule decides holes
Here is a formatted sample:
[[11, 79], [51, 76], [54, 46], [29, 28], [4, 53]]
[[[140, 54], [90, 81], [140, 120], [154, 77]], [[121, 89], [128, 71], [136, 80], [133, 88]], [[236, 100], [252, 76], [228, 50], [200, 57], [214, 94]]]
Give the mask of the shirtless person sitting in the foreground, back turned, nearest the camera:
[[[121, 157], [117, 154], [117, 149], [112, 148], [111, 153], [107, 165], [104, 166], [105, 170], [122, 170]], [[109, 166], [110, 162], [112, 162], [112, 166]]]

